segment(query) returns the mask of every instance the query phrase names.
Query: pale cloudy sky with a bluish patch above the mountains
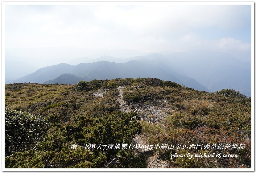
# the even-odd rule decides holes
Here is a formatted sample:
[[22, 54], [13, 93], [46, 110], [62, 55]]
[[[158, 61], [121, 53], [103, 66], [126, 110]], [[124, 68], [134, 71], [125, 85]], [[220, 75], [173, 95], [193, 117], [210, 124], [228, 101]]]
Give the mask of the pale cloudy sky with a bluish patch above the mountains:
[[8, 52], [15, 56], [26, 56], [21, 49], [69, 46], [143, 53], [209, 50], [251, 61], [250, 5], [5, 5], [4, 27], [6, 50], [19, 48]]

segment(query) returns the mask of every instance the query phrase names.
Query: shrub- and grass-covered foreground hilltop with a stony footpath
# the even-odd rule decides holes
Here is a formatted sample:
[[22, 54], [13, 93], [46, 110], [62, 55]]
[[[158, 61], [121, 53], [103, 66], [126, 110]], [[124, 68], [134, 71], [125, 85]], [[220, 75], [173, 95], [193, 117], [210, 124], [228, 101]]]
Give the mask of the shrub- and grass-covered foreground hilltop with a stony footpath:
[[[251, 98], [233, 89], [205, 92], [156, 78], [118, 78], [14, 83], [4, 94], [5, 168], [251, 168]], [[186, 157], [170, 159], [175, 153]], [[237, 157], [190, 159], [188, 153]]]

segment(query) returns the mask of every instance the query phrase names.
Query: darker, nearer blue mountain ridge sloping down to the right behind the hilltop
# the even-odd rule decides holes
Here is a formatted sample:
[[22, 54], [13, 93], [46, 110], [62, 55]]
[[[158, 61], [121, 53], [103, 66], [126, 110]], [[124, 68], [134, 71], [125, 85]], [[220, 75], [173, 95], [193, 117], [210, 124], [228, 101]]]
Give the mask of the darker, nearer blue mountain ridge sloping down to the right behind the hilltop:
[[162, 80], [174, 81], [198, 90], [209, 91], [194, 79], [185, 77], [178, 73], [175, 74], [177, 74], [177, 77], [157, 65], [152, 65], [142, 61], [131, 60], [127, 63], [98, 61], [87, 64], [80, 63], [78, 65], [69, 65], [65, 63], [52, 65], [41, 68], [34, 73], [15, 80], [14, 82], [76, 84], [79, 80], [91, 81], [93, 79], [105, 80], [129, 77], [155, 77]]

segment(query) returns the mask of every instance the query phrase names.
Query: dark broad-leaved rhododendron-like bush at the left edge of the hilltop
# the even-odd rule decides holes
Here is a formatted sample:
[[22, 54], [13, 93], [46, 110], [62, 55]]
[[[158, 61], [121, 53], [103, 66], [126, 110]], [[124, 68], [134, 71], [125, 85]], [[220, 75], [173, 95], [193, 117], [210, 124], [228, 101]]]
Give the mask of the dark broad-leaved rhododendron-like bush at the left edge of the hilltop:
[[22, 151], [45, 136], [50, 122], [28, 112], [5, 108], [5, 152]]

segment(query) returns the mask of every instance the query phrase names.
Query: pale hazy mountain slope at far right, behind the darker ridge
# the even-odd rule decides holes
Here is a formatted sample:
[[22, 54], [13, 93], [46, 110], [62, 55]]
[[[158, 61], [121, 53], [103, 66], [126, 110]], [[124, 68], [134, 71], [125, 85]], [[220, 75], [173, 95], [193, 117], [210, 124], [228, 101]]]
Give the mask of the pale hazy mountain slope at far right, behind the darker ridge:
[[183, 75], [192, 77], [211, 92], [231, 88], [251, 96], [251, 63], [223, 52], [189, 51], [167, 55]]

